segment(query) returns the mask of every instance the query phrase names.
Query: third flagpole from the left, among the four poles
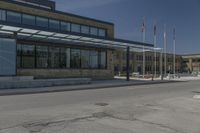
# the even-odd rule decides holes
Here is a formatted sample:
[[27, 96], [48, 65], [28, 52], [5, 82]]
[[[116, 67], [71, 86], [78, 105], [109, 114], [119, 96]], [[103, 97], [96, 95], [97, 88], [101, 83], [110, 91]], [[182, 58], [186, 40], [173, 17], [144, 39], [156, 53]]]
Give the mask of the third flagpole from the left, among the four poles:
[[164, 75], [167, 76], [167, 33], [166, 24], [164, 25]]

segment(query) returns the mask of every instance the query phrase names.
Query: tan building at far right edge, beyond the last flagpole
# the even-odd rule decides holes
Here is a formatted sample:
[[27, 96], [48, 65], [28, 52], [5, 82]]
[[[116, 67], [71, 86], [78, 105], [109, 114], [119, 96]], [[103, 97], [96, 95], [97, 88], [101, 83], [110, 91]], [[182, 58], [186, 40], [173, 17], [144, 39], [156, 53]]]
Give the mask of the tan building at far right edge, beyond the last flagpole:
[[184, 72], [200, 72], [200, 54], [183, 55]]

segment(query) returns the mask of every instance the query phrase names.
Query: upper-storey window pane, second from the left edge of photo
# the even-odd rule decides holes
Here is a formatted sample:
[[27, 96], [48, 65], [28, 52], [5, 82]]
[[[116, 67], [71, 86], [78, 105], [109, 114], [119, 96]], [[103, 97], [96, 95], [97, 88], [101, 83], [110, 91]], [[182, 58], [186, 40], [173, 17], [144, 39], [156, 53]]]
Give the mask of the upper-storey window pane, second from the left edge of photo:
[[21, 23], [21, 14], [7, 11], [7, 21], [14, 23]]

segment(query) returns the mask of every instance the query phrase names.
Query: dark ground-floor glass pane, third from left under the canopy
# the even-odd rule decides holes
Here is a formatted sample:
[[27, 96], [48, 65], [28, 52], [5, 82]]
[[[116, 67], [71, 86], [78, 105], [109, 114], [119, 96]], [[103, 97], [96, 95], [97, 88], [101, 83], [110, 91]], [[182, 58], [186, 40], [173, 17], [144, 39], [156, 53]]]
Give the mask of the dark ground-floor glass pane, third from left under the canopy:
[[48, 47], [47, 46], [36, 46], [36, 60], [37, 60], [37, 68], [48, 67]]

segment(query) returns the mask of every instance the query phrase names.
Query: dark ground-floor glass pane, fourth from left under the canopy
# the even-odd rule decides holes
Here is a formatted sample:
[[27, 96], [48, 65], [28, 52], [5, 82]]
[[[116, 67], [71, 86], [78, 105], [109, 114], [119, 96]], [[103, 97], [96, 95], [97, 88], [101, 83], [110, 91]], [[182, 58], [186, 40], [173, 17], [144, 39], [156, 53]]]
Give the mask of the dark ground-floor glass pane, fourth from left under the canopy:
[[59, 68], [59, 48], [49, 47], [49, 67], [51, 68]]

